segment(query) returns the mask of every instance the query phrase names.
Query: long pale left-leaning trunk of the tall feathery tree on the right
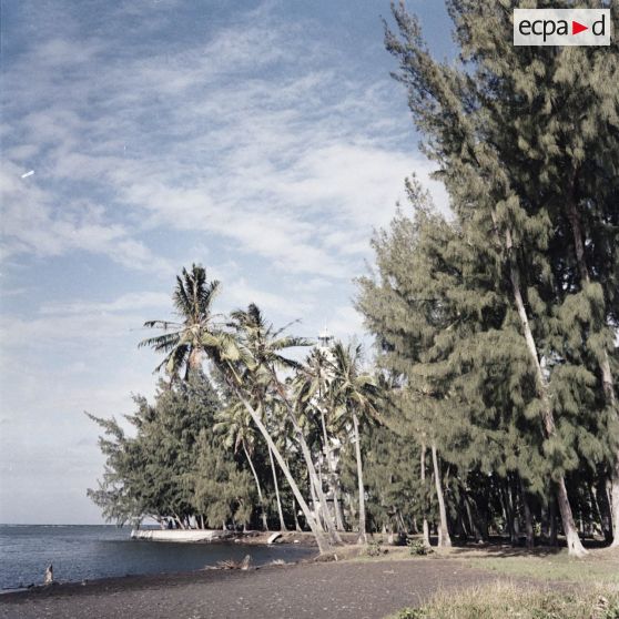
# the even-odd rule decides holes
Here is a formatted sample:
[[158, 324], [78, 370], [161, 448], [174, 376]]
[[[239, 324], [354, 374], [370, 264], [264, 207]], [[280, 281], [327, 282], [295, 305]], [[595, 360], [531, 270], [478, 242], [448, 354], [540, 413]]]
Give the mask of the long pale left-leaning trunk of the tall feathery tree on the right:
[[[509, 234], [509, 232], [507, 233], [507, 250], [508, 252], [511, 252], [511, 235]], [[544, 407], [544, 413], [542, 413], [544, 428], [546, 430], [546, 436], [552, 437], [556, 434], [556, 429], [555, 429], [555, 417], [552, 415], [552, 407], [550, 405], [550, 399], [548, 397], [548, 384], [546, 382], [546, 377], [544, 376], [544, 372], [541, 371], [541, 365], [539, 363], [539, 356], [537, 353], [537, 345], [532, 336], [532, 332], [529, 325], [529, 319], [527, 316], [527, 311], [525, 308], [525, 303], [522, 301], [522, 295], [520, 292], [520, 275], [518, 273], [518, 270], [511, 256], [509, 257], [509, 277], [511, 281], [516, 308], [518, 311], [518, 316], [520, 318], [520, 325], [525, 333], [525, 341], [527, 343], [527, 348], [529, 351], [529, 355], [531, 357], [535, 372], [536, 372], [538, 394]], [[557, 485], [559, 488], [558, 497], [557, 497], [559, 504], [559, 511], [561, 514], [561, 522], [564, 525], [564, 531], [568, 540], [569, 555], [572, 555], [575, 557], [582, 557], [584, 555], [587, 555], [587, 550], [585, 550], [585, 547], [580, 542], [580, 538], [578, 537], [578, 531], [576, 530], [576, 526], [574, 524], [571, 506], [569, 504], [569, 498], [566, 489], [566, 481], [562, 475], [560, 476]]]

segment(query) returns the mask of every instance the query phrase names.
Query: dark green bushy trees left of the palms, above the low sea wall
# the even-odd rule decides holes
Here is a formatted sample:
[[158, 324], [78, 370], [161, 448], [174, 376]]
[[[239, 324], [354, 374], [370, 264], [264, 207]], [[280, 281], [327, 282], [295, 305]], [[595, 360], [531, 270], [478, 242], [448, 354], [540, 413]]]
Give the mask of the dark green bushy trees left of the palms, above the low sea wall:
[[[187, 526], [191, 517], [210, 522], [245, 524], [252, 490], [231, 451], [213, 440], [219, 398], [200, 372], [170, 387], [162, 384], [154, 405], [136, 397], [128, 415], [129, 436], [114, 419], [93, 419], [104, 429], [100, 446], [106, 456], [99, 489], [89, 496], [108, 520], [124, 524], [152, 517]], [[205, 497], [216, 496], [216, 506]], [[222, 516], [223, 515], [223, 516]]]

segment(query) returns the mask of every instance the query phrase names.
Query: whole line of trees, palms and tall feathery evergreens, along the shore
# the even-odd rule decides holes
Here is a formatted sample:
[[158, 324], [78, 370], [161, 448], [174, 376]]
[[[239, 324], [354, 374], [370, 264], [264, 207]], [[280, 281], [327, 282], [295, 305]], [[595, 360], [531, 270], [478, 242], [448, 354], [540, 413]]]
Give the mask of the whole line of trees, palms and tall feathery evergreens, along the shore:
[[108, 518], [308, 528], [323, 551], [344, 530], [619, 544], [617, 43], [515, 48], [513, 1], [447, 4], [456, 63], [403, 4], [386, 26], [451, 213], [413, 176], [375, 234], [372, 367], [332, 341], [297, 361], [311, 342], [213, 313], [220, 284], [183, 271], [177, 322], [146, 323], [154, 404], [131, 436], [97, 419]]

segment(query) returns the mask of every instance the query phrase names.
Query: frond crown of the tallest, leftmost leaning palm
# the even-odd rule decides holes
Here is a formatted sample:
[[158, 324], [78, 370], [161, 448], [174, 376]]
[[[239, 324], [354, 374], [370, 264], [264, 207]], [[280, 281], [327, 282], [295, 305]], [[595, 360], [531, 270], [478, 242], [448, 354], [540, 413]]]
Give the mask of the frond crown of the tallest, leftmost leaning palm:
[[[148, 321], [145, 327], [159, 328], [164, 333], [140, 342], [139, 346], [149, 346], [164, 358], [155, 372], [164, 368], [171, 379], [176, 379], [184, 367], [185, 379], [192, 369], [202, 365], [202, 357], [214, 329], [212, 304], [220, 291], [220, 282], [206, 281], [203, 266], [193, 264], [191, 271], [183, 268], [176, 276], [176, 287], [172, 300], [177, 321]], [[213, 342], [211, 342], [213, 344]]]

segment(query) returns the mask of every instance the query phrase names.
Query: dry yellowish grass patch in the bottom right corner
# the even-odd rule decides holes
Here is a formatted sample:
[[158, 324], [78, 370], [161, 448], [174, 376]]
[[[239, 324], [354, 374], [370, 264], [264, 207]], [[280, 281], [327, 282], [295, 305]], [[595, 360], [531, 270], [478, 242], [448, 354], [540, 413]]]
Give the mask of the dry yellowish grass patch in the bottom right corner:
[[442, 592], [387, 619], [619, 619], [619, 590], [526, 590], [511, 584]]

